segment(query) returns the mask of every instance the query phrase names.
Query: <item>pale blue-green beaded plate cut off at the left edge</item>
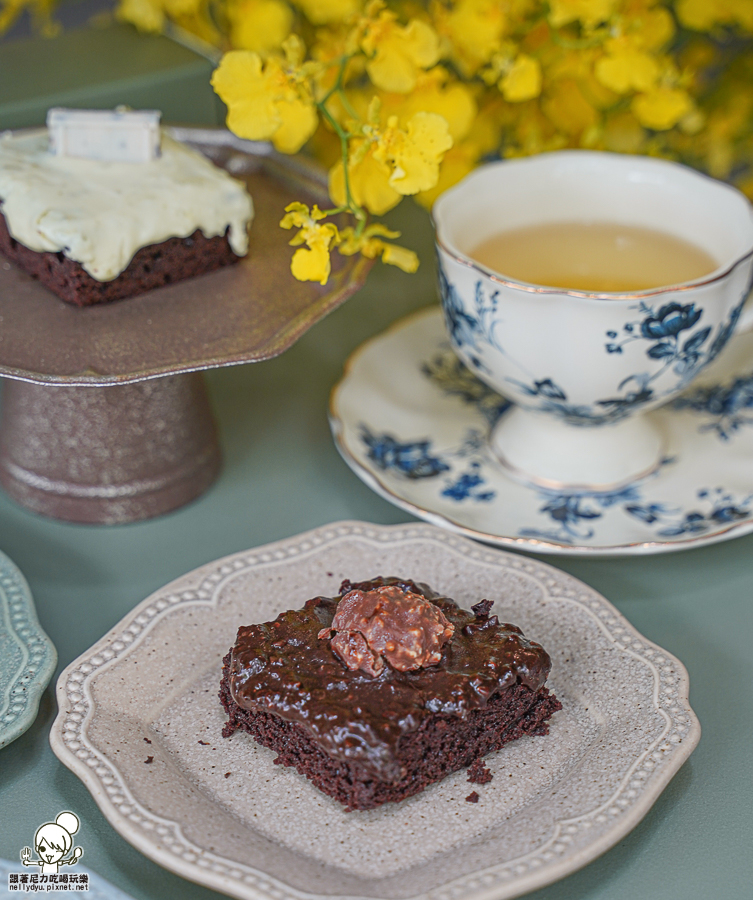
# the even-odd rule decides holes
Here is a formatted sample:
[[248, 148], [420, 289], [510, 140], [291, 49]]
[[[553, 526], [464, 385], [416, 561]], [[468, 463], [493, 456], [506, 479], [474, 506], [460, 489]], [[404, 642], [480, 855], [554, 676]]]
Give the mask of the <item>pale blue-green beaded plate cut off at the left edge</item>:
[[29, 585], [0, 553], [0, 747], [36, 719], [56, 665], [57, 653], [37, 620]]

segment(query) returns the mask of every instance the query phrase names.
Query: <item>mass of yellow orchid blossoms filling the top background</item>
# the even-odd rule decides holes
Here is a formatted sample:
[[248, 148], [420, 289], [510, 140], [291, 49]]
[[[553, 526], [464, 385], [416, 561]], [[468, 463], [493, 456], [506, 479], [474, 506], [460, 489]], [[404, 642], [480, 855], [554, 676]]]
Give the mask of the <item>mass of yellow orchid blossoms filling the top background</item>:
[[[0, 30], [53, 2], [0, 0]], [[325, 278], [334, 249], [410, 269], [369, 217], [407, 195], [431, 205], [485, 158], [644, 153], [753, 196], [753, 0], [119, 3], [143, 30], [175, 22], [223, 51], [212, 83], [234, 132], [329, 167], [333, 208], [283, 219], [299, 278]]]

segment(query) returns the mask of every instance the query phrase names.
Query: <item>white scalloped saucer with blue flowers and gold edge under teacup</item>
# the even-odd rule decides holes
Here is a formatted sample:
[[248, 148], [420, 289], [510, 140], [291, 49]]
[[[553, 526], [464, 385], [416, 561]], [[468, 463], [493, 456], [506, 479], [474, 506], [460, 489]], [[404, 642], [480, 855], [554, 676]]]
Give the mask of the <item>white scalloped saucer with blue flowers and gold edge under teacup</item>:
[[487, 446], [508, 401], [450, 349], [441, 310], [403, 319], [350, 358], [332, 393], [340, 453], [413, 515], [503, 547], [573, 556], [666, 553], [753, 531], [753, 334], [650, 415], [667, 456], [611, 492], [510, 479]]

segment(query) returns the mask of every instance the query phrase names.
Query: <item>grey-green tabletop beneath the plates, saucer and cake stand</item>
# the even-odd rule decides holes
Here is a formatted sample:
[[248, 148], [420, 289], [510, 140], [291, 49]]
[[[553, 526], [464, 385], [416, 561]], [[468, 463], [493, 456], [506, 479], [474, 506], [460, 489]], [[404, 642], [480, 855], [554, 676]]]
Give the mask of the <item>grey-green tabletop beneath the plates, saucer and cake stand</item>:
[[[185, 92], [190, 86], [173, 84], [161, 105], [185, 103]], [[348, 469], [326, 416], [347, 356], [436, 302], [428, 216], [405, 203], [388, 222], [420, 253], [417, 275], [377, 266], [364, 290], [283, 356], [207, 375], [225, 463], [198, 501], [150, 522], [101, 528], [40, 518], [0, 494], [0, 548], [31, 585], [59, 670], [152, 591], [196, 566], [338, 519], [408, 518]], [[541, 557], [601, 591], [685, 663], [703, 735], [633, 832], [531, 898], [753, 898], [752, 554], [753, 535], [660, 556]], [[114, 831], [50, 750], [54, 715], [51, 686], [35, 724], [0, 750], [0, 857], [18, 859], [42, 822], [71, 809], [82, 822], [82, 862], [134, 898], [219, 896], [160, 868]]]

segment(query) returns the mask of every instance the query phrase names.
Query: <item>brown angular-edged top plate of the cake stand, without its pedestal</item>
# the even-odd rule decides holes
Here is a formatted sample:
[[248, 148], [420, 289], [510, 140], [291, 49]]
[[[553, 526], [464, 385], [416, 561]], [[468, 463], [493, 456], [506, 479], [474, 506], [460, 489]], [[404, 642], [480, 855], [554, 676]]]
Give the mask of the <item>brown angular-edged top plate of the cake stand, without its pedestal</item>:
[[127, 384], [287, 350], [363, 284], [370, 262], [334, 254], [322, 286], [290, 273], [293, 200], [326, 204], [326, 178], [300, 157], [224, 129], [172, 128], [245, 181], [256, 215], [237, 265], [101, 306], [78, 308], [0, 256], [0, 375], [40, 384]]

